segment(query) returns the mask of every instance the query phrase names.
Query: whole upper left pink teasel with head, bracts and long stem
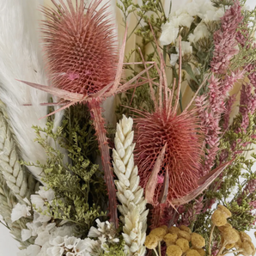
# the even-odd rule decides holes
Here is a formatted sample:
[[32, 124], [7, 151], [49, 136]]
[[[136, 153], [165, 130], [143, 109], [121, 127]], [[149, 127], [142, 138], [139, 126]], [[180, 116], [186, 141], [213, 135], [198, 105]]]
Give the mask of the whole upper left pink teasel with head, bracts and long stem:
[[64, 106], [50, 114], [76, 103], [88, 104], [101, 150], [110, 221], [118, 227], [113, 168], [104, 127], [105, 120], [101, 115], [101, 102], [113, 94], [145, 83], [137, 82], [137, 79], [152, 66], [120, 85], [127, 28], [119, 50], [113, 33], [115, 27], [107, 14], [107, 5], [99, 8], [101, 0], [94, 0], [86, 12], [82, 0], [76, 0], [75, 5], [70, 0], [66, 3], [59, 0], [60, 5], [55, 0], [52, 3], [57, 10], [42, 9], [47, 17], [42, 32], [52, 87], [21, 82], [60, 98], [57, 104]]

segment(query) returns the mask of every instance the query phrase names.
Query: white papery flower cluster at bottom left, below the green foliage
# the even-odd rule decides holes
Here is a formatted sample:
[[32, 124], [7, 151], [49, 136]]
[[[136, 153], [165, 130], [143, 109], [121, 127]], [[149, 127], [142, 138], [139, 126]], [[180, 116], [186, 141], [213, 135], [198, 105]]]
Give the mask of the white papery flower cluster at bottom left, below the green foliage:
[[[119, 242], [116, 238], [116, 229], [110, 222], [100, 222], [96, 220], [98, 229], [92, 227], [88, 236], [97, 240], [86, 238], [82, 240], [73, 236], [76, 225], [63, 224], [57, 227], [56, 222], [52, 222], [51, 212], [49, 213], [46, 204], [52, 204], [55, 198], [52, 189], [40, 186], [40, 191], [31, 196], [34, 206], [34, 220], [27, 222], [27, 229], [21, 230], [22, 241], [30, 238], [34, 239], [34, 244], [21, 250], [18, 256], [99, 256], [104, 251], [107, 252], [110, 243]], [[24, 200], [30, 204], [28, 200]], [[12, 221], [15, 222], [22, 216], [29, 216], [31, 206], [16, 204], [12, 211]], [[64, 222], [63, 222], [64, 223]]]

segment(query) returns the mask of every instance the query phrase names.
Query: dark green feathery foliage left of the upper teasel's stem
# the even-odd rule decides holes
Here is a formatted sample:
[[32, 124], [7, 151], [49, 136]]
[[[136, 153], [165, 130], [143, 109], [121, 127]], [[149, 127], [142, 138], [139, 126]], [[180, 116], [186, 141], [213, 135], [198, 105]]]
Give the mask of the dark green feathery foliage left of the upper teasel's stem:
[[[103, 174], [93, 163], [97, 143], [88, 109], [70, 108], [55, 132], [52, 121], [46, 123], [46, 128], [34, 126], [34, 130], [35, 141], [46, 150], [47, 161], [23, 164], [42, 168], [43, 182], [55, 192], [55, 199], [47, 204], [48, 212], [55, 219], [76, 223], [77, 232], [84, 236], [95, 218], [106, 216], [102, 210], [107, 209]], [[69, 159], [64, 158], [63, 150]]]

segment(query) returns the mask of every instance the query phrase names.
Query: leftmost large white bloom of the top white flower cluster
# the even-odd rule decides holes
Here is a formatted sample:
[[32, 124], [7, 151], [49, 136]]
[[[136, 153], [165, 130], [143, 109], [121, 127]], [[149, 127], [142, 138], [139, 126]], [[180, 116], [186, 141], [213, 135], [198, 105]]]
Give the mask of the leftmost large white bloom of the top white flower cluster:
[[159, 41], [162, 46], [168, 46], [174, 43], [179, 33], [179, 27], [174, 27], [174, 23], [167, 22], [162, 25], [162, 34]]

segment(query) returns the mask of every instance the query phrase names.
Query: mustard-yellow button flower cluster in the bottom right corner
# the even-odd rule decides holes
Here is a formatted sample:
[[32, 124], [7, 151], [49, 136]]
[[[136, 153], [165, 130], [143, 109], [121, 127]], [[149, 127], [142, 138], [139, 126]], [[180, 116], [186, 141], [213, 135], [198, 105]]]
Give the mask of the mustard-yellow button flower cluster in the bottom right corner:
[[[219, 229], [221, 235], [221, 252], [218, 255], [224, 255], [227, 250], [232, 253], [240, 253], [244, 256], [254, 255], [255, 247], [252, 239], [245, 232], [239, 232], [233, 229], [232, 225], [227, 222], [227, 218], [231, 217], [231, 212], [223, 205], [218, 205], [217, 210], [211, 216], [211, 222]], [[222, 254], [223, 251], [223, 254]]]

